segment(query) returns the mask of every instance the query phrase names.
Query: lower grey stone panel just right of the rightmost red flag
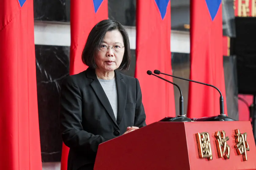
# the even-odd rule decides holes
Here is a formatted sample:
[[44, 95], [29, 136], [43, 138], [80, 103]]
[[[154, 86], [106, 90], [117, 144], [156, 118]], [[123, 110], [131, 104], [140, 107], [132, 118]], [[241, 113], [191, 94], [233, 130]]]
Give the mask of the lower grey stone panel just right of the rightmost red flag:
[[223, 57], [228, 116], [238, 120], [238, 83], [235, 56]]

